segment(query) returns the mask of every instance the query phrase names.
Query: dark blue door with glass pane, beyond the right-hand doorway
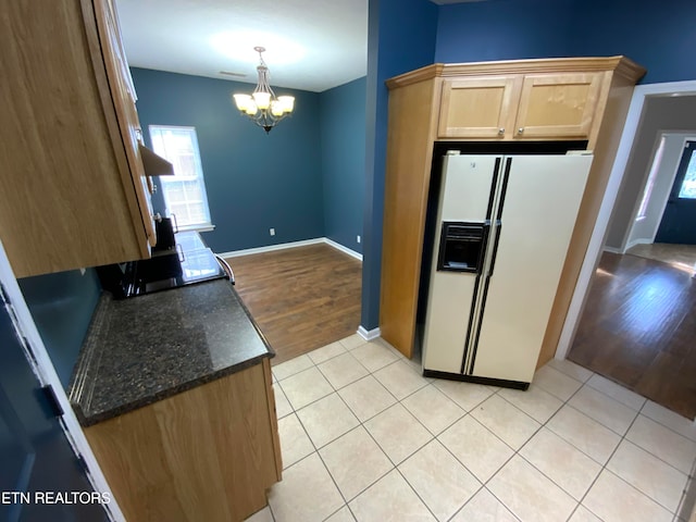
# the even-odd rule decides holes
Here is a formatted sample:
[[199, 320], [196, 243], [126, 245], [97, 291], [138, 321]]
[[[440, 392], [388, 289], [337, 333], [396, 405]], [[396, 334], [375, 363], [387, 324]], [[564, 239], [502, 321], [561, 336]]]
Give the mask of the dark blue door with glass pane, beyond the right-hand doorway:
[[686, 141], [655, 243], [696, 245], [696, 141]]

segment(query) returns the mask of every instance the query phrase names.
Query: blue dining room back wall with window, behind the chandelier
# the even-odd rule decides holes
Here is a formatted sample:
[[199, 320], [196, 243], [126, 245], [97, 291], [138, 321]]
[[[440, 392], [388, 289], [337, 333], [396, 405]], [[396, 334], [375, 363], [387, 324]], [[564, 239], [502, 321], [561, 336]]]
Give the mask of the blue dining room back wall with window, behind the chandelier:
[[318, 94], [276, 88], [296, 97], [296, 111], [266, 135], [231, 98], [253, 85], [142, 69], [132, 74], [146, 142], [151, 124], [196, 127], [216, 226], [203, 238], [214, 251], [323, 235]]

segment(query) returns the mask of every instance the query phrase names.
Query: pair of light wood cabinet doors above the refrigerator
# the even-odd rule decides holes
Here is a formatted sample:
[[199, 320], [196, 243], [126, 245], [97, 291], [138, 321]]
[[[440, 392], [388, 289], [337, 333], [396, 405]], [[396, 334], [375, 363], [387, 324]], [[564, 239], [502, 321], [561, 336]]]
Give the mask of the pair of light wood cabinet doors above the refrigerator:
[[547, 73], [444, 79], [437, 136], [587, 138], [604, 77], [604, 73]]

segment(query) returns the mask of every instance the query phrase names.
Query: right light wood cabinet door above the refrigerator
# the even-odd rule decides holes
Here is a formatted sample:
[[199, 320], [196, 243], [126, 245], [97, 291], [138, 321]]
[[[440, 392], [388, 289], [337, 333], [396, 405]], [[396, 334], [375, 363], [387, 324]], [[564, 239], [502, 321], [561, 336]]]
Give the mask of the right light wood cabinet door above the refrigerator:
[[525, 75], [514, 137], [587, 137], [602, 77], [602, 73]]

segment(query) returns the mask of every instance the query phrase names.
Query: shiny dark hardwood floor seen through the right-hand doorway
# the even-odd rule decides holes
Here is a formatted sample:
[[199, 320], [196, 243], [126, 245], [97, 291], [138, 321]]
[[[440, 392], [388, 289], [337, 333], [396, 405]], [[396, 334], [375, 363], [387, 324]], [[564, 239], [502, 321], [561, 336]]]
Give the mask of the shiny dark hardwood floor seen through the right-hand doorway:
[[696, 279], [605, 252], [568, 356], [688, 419], [696, 417]]

